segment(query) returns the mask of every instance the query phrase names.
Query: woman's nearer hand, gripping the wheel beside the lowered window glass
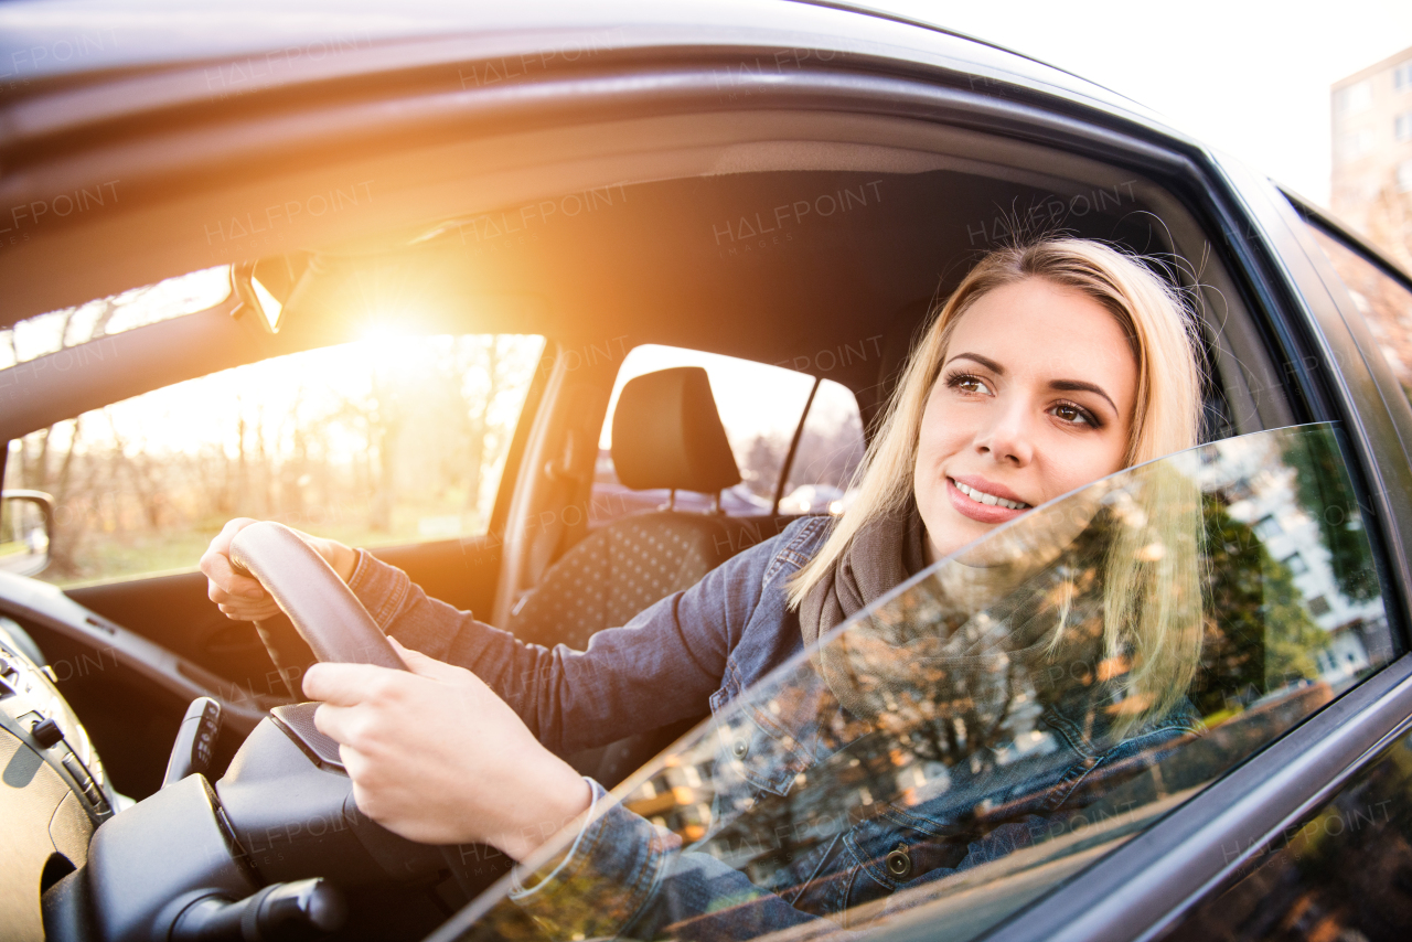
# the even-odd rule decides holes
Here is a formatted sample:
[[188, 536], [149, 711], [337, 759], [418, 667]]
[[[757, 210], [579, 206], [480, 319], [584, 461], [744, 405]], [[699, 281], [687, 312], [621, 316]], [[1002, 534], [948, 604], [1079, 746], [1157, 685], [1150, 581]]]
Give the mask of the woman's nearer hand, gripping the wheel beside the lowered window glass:
[[524, 860], [587, 809], [583, 778], [480, 678], [393, 645], [409, 671], [315, 664], [304, 675], [363, 813], [409, 840]]

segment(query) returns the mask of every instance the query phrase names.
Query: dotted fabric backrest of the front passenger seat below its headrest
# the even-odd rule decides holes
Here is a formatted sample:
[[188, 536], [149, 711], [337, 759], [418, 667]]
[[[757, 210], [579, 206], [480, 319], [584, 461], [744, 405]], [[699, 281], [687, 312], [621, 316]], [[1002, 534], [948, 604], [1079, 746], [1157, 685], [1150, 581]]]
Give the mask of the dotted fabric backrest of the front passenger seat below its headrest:
[[510, 617], [521, 641], [585, 650], [596, 631], [696, 585], [741, 548], [720, 517], [648, 513], [616, 520], [563, 554]]

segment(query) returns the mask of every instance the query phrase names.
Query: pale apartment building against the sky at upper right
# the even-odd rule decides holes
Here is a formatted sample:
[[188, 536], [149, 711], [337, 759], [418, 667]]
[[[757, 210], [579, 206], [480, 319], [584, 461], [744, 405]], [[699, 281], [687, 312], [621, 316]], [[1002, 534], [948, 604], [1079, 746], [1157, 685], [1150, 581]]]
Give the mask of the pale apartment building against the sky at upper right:
[[1334, 82], [1330, 209], [1412, 270], [1412, 47]]

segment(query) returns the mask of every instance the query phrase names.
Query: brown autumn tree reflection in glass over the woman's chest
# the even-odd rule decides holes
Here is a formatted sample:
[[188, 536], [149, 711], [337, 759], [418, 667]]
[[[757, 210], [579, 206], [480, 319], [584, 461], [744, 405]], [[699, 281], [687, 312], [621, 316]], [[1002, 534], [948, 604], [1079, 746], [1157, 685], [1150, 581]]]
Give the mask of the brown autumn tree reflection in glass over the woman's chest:
[[[1086, 729], [1107, 726], [1106, 691], [1125, 669], [1104, 658], [1107, 524], [983, 610], [923, 582], [836, 637], [849, 657], [834, 664], [854, 669], [849, 710], [861, 715], [834, 700], [837, 675], [833, 692], [808, 671], [772, 686], [762, 712], [791, 732], [818, 720], [799, 740], [822, 758], [786, 795], [760, 795], [747, 813], [727, 816], [703, 849], [789, 898], [837, 833], [887, 808], [945, 818], [947, 836], [925, 852], [929, 866], [943, 866], [938, 854], [953, 866], [971, 840], [1032, 813], [1062, 765], [1041, 746], [1055, 708], [1063, 702]], [[1051, 647], [1060, 613], [1065, 633]]]

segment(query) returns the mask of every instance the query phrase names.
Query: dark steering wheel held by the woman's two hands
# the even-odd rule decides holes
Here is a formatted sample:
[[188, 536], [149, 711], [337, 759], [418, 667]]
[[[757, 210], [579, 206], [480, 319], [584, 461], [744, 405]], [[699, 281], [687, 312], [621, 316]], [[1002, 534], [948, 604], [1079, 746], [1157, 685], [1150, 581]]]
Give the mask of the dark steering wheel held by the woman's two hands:
[[[407, 669], [407, 665], [402, 664], [402, 660], [393, 650], [393, 645], [387, 641], [387, 637], [377, 627], [377, 623], [373, 621], [373, 617], [363, 607], [363, 603], [359, 602], [357, 596], [339, 579], [323, 556], [288, 527], [273, 521], [246, 527], [236, 534], [230, 544], [230, 561], [237, 571], [249, 572], [258, 579], [265, 590], [274, 596], [275, 603], [289, 617], [295, 630], [308, 643], [309, 648], [313, 650], [319, 661], [374, 664], [393, 669]], [[261, 638], [265, 640], [267, 647], [271, 647], [270, 654], [275, 658], [275, 665], [282, 667], [264, 631], [261, 631]], [[241, 753], [247, 753], [249, 750], [250, 757], [241, 764], [241, 756], [237, 754], [236, 761], [232, 763], [232, 771], [236, 774], [232, 775], [227, 773], [227, 777], [217, 782], [217, 791], [220, 791], [222, 798], [227, 799], [227, 804], [236, 802], [244, 805], [246, 802], [240, 801], [240, 795], [246, 789], [239, 788], [239, 781], [230, 782], [230, 785], [236, 787], [227, 785], [227, 780], [239, 780], [241, 775], [249, 777], [257, 768], [271, 765], [273, 760], [270, 757], [274, 751], [287, 749], [289, 746], [288, 739], [302, 750], [306, 760], [312, 760], [312, 764], [306, 765], [304, 761], [295, 761], [294, 764], [299, 768], [291, 770], [288, 768], [288, 763], [285, 763], [285, 768], [280, 771], [278, 778], [289, 785], [294, 785], [295, 780], [298, 780], [299, 788], [306, 791], [326, 791], [330, 785], [330, 775], [343, 777], [346, 782], [346, 792], [343, 794], [346, 797], [340, 801], [339, 795], [333, 794], [332, 806], [323, 802], [328, 809], [315, 812], [315, 818], [330, 819], [339, 813], [339, 809], [345, 816], [361, 818], [352, 830], [356, 832], [363, 847], [373, 853], [384, 873], [388, 876], [425, 873], [428, 864], [426, 854], [431, 853], [435, 856], [439, 850], [443, 866], [450, 870], [467, 898], [473, 897], [484, 886], [489, 886], [490, 880], [480, 876], [484, 873], [484, 867], [479, 864], [484, 863], [487, 857], [503, 859], [498, 852], [476, 845], [442, 847], [419, 845], [405, 840], [357, 813], [352, 797], [352, 781], [346, 778], [346, 773], [343, 771], [337, 743], [323, 736], [313, 726], [313, 710], [316, 708], [318, 703], [274, 708], [271, 710], [271, 720], [273, 726], [278, 727], [278, 732], [263, 729], [271, 726], [271, 720], [267, 720], [251, 733], [246, 744], [241, 746]], [[284, 741], [284, 746], [278, 744], [281, 741]], [[311, 775], [316, 778], [311, 778]], [[260, 777], [258, 773], [257, 777]], [[337, 788], [335, 785], [335, 789]], [[270, 792], [268, 789], [261, 789], [256, 794], [268, 797]], [[263, 805], [264, 801], [254, 804]], [[249, 805], [246, 806], [249, 808]], [[236, 809], [230, 808], [229, 811], [234, 812]], [[264, 809], [261, 816], [264, 818], [265, 815], [268, 815], [268, 809]], [[243, 818], [244, 815], [233, 813], [232, 816]], [[268, 828], [268, 821], [265, 818], [260, 823]], [[239, 821], [236, 826], [237, 830], [243, 830]], [[284, 826], [288, 829], [291, 825], [287, 823]], [[309, 833], [313, 832], [311, 821], [297, 822], [297, 826], [302, 826]], [[313, 854], [313, 857], [322, 856], [318, 852]], [[284, 854], [281, 854], [281, 860], [284, 860]], [[309, 861], [313, 863], [312, 859]], [[498, 866], [493, 867], [490, 878], [493, 880], [500, 876], [498, 871], [501, 869]]]

